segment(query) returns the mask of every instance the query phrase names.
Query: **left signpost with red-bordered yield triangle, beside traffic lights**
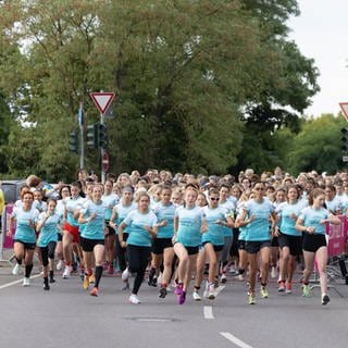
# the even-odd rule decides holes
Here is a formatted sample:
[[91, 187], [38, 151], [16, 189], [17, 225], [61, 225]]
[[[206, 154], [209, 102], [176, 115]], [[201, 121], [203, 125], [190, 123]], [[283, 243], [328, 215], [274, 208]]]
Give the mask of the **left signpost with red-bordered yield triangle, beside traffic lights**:
[[[100, 124], [104, 125], [104, 114], [108, 111], [113, 98], [115, 97], [114, 92], [91, 92], [90, 98], [100, 111]], [[109, 170], [109, 153], [103, 147], [100, 147], [100, 158], [101, 158], [101, 182], [105, 182], [105, 173]]]

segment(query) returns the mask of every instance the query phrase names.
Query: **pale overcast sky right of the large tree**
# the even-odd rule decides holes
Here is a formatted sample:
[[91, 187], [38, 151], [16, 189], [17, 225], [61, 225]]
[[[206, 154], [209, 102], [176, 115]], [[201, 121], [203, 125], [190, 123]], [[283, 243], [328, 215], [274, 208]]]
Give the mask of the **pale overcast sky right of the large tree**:
[[348, 0], [298, 0], [298, 4], [301, 14], [289, 20], [289, 37], [304, 57], [314, 59], [321, 88], [304, 114], [336, 115], [339, 102], [348, 102]]

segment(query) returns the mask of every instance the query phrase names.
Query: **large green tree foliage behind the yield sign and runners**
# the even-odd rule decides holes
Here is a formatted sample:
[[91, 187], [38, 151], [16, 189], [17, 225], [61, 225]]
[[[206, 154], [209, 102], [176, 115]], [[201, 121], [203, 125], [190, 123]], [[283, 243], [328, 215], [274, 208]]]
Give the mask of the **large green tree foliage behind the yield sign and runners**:
[[[286, 38], [295, 0], [0, 7], [0, 88], [17, 121], [4, 148], [12, 174], [73, 177], [78, 158], [69, 153], [69, 133], [79, 102], [87, 124], [98, 122], [89, 92], [99, 90], [116, 92], [116, 119], [107, 121], [113, 172], [223, 173], [238, 154], [244, 164], [269, 165], [275, 126], [297, 126], [284, 107], [301, 111], [318, 90], [313, 62]], [[251, 140], [260, 152], [244, 156]], [[86, 161], [96, 170], [97, 151]]]

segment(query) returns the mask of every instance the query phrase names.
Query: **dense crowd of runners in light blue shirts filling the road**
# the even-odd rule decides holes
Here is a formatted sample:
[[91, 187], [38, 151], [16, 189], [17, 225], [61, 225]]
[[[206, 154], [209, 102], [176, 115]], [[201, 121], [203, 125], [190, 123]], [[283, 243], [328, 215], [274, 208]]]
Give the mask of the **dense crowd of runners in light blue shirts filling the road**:
[[142, 176], [110, 173], [101, 184], [80, 170], [69, 185], [44, 189], [35, 175], [26, 183], [9, 224], [15, 225], [12, 273], [24, 269], [23, 286], [30, 284], [37, 251], [45, 290], [55, 282], [54, 269], [69, 278], [77, 268], [91, 296], [98, 296], [103, 272], [121, 272], [132, 303], [140, 302], [147, 276], [160, 298], [174, 284], [183, 304], [192, 279], [194, 299], [213, 300], [231, 271], [248, 283], [247, 301], [254, 304], [258, 276], [262, 298], [269, 297], [269, 276], [277, 274], [278, 291], [291, 294], [299, 261], [302, 295], [311, 296], [315, 259], [321, 303], [330, 301], [325, 228], [340, 224], [337, 215], [347, 212], [347, 173], [294, 177], [276, 167], [260, 176], [248, 169], [234, 177], [148, 170]]

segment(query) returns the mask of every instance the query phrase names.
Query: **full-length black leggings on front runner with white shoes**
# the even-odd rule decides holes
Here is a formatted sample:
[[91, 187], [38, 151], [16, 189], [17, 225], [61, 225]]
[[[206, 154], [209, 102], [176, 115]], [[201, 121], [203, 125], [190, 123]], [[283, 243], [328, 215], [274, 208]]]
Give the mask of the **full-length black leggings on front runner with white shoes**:
[[151, 247], [138, 247], [138, 246], [128, 245], [127, 252], [128, 252], [129, 272], [137, 274], [134, 279], [133, 291], [132, 291], [132, 294], [136, 295], [138, 294], [138, 290], [144, 281], [145, 271], [151, 256]]

